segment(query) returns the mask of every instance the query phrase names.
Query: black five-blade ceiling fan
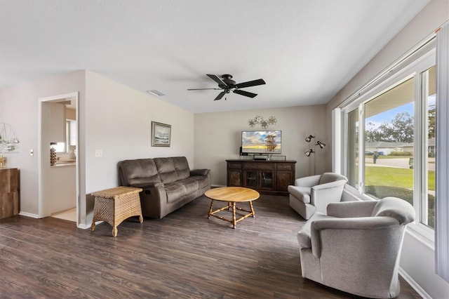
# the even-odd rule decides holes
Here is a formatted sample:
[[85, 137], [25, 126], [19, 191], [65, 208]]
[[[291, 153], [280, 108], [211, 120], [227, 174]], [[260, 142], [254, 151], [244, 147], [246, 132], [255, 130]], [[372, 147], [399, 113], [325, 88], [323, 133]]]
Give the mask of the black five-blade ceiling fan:
[[250, 93], [249, 91], [241, 91], [239, 88], [265, 84], [265, 81], [263, 79], [257, 79], [253, 81], [236, 84], [236, 81], [232, 80], [232, 75], [230, 74], [223, 74], [221, 79], [214, 74], [207, 74], [207, 76], [210, 79], [213, 79], [213, 81], [217, 82], [218, 88], [189, 88], [187, 89], [187, 91], [202, 91], [205, 89], [215, 89], [217, 91], [223, 90], [221, 93], [217, 95], [217, 98], [215, 98], [214, 100], [221, 100], [225, 94], [230, 93], [231, 91], [233, 93], [237, 93], [238, 95], [244, 95], [249, 98], [254, 98], [257, 95], [257, 93]]

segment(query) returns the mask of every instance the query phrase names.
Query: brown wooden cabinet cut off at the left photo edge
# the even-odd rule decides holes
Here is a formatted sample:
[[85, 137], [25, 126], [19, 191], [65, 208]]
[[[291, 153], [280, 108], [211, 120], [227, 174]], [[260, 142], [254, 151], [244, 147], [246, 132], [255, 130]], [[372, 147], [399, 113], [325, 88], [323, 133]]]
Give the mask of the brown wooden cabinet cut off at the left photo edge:
[[18, 169], [0, 168], [0, 219], [19, 214]]

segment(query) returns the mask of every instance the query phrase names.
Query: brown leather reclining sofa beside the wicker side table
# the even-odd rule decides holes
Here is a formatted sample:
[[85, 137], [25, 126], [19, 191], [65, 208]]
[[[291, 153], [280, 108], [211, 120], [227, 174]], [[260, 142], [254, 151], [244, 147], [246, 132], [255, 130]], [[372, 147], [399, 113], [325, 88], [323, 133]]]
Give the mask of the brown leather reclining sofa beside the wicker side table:
[[121, 186], [139, 187], [142, 214], [163, 218], [210, 189], [210, 170], [190, 170], [186, 157], [119, 162]]

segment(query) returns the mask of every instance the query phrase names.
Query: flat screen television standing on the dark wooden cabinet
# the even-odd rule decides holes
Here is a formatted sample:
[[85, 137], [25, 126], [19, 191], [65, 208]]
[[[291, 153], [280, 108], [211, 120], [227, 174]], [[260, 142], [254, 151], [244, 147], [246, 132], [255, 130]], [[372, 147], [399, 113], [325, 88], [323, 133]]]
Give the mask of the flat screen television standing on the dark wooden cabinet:
[[242, 131], [241, 152], [281, 154], [282, 131]]

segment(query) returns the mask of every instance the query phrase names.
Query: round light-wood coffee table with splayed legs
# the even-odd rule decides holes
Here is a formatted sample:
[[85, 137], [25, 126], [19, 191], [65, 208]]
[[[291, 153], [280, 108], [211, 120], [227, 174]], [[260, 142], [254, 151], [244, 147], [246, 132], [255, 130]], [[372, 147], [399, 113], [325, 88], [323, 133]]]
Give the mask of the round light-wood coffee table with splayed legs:
[[[249, 216], [255, 217], [255, 212], [253, 208], [253, 200], [256, 200], [259, 198], [260, 194], [259, 192], [244, 188], [244, 187], [219, 187], [219, 188], [213, 188], [210, 190], [207, 190], [204, 192], [204, 195], [210, 199], [210, 208], [208, 213], [208, 219], [210, 216], [214, 216], [215, 218], [225, 220], [227, 222], [231, 222], [233, 228], [236, 228], [237, 222], [248, 218]], [[212, 211], [213, 207], [213, 201], [227, 201], [227, 206], [224, 206], [222, 208], [218, 208], [215, 211]], [[250, 211], [244, 210], [243, 208], [236, 207], [236, 203], [238, 202], [248, 202], [250, 205]], [[225, 217], [222, 217], [220, 215], [215, 215], [218, 212], [229, 210], [232, 208], [232, 220], [229, 220]], [[246, 212], [241, 218], [236, 219], [236, 210]]]

